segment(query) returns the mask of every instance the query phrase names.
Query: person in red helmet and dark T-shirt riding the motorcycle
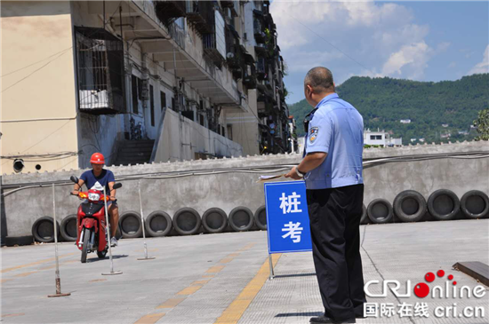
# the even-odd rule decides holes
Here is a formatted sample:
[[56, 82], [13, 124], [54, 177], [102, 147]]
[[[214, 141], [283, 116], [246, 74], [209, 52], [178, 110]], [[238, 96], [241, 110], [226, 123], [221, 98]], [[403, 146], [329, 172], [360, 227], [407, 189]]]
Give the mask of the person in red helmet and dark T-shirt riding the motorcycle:
[[110, 198], [110, 200], [107, 202], [111, 237], [110, 245], [112, 247], [116, 247], [118, 245], [116, 232], [117, 225], [119, 223], [119, 208], [116, 200], [116, 189], [113, 188], [114, 184], [116, 183], [116, 178], [114, 178], [114, 173], [112, 173], [111, 170], [103, 169], [105, 160], [102, 154], [92, 154], [90, 163], [92, 164], [92, 170], [84, 171], [78, 180], [78, 184], [75, 184], [72, 194], [77, 195], [79, 189], [85, 183], [88, 189], [100, 190], [101, 192], [103, 192], [103, 186], [106, 187], [106, 193]]

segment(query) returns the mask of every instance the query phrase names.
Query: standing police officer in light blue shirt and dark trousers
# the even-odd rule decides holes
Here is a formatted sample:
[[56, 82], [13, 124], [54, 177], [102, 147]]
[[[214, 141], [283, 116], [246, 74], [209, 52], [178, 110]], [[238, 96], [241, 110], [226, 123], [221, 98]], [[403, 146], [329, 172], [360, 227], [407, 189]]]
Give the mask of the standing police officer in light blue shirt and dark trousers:
[[304, 94], [314, 107], [305, 121], [304, 158], [285, 177], [306, 181], [314, 265], [325, 306], [324, 316], [310, 322], [355, 323], [364, 316], [366, 302], [359, 233], [364, 121], [335, 93], [325, 67], [308, 72]]

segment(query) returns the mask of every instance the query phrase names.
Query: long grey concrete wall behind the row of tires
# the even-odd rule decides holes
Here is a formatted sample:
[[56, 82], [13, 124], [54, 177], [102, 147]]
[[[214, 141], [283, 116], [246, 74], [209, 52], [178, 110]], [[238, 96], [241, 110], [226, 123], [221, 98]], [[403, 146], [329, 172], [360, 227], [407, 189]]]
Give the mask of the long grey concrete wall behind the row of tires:
[[[451, 154], [461, 152], [489, 153], [488, 142], [464, 142], [441, 146], [405, 146], [399, 148], [366, 149], [365, 161], [392, 156], [423, 154]], [[126, 167], [108, 167], [116, 178], [138, 176], [154, 172], [186, 170], [214, 170], [244, 167], [263, 168], [269, 165], [296, 164], [299, 154], [261, 155], [232, 159], [205, 161], [155, 163]], [[28, 173], [4, 175], [2, 193], [13, 190], [4, 186], [52, 181], [68, 181], [70, 175], [79, 175], [84, 170], [69, 170], [52, 173]], [[365, 205], [375, 198], [392, 202], [403, 190], [412, 189], [428, 199], [437, 189], [450, 189], [459, 197], [469, 190], [489, 193], [489, 158], [453, 159], [442, 158], [427, 161], [390, 162], [365, 168]], [[267, 174], [267, 173], [266, 173]], [[264, 204], [263, 184], [257, 183], [259, 174], [229, 172], [224, 174], [188, 176], [183, 178], [143, 179], [142, 201], [144, 214], [161, 209], [169, 215], [180, 208], [191, 207], [200, 215], [206, 209], [219, 207], [229, 213], [237, 206], [245, 206], [254, 212]], [[281, 179], [283, 180], [283, 179]], [[117, 191], [121, 211], [140, 210], [137, 180], [124, 180], [123, 188]], [[58, 220], [76, 213], [79, 201], [70, 196], [72, 185], [57, 186], [56, 213]], [[52, 187], [34, 187], [5, 196], [2, 200], [2, 235], [17, 237], [31, 234], [31, 226], [38, 217], [52, 216]]]

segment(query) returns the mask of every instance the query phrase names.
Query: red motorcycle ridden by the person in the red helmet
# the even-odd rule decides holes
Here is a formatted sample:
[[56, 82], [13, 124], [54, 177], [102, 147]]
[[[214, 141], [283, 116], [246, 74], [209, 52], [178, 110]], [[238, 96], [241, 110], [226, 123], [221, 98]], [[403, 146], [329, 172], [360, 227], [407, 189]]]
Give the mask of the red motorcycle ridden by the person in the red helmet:
[[[71, 176], [71, 181], [78, 183], [78, 178]], [[121, 183], [116, 183], [113, 188], [118, 189]], [[81, 261], [86, 262], [88, 253], [97, 251], [99, 258], [104, 258], [108, 251], [105, 202], [109, 197], [99, 190], [90, 189], [87, 192], [79, 192], [78, 198], [84, 200], [76, 213], [76, 228], [78, 235], [76, 246], [82, 251]]]

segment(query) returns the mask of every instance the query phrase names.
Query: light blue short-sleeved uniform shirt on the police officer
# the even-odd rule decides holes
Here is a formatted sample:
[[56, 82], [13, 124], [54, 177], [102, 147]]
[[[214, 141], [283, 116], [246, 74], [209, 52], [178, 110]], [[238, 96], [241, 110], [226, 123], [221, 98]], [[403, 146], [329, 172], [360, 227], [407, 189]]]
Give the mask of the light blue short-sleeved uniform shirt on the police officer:
[[304, 153], [327, 153], [325, 161], [304, 177], [307, 189], [364, 183], [364, 119], [357, 109], [330, 94], [317, 104], [309, 122]]

